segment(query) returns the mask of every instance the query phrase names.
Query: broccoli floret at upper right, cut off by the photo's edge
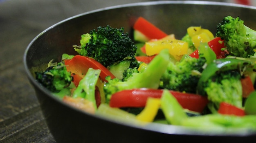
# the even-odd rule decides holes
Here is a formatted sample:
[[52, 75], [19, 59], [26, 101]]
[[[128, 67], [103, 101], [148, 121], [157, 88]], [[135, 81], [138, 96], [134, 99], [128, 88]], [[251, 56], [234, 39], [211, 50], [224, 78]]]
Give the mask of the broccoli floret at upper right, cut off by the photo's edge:
[[256, 31], [245, 26], [239, 17], [224, 17], [217, 25], [216, 36], [224, 40], [230, 55], [247, 58], [255, 53]]

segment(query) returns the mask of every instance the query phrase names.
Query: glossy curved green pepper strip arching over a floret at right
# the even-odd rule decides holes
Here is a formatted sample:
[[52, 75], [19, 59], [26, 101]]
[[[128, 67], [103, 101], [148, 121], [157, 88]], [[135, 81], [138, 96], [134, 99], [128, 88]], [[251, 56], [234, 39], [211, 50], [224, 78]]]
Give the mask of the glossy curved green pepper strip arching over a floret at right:
[[227, 70], [239, 70], [241, 74], [245, 71], [256, 71], [256, 65], [247, 60], [240, 59], [216, 59], [203, 70], [202, 75], [198, 81], [197, 92], [199, 95], [206, 95], [204, 91], [203, 84], [215, 75], [217, 72], [227, 71]]

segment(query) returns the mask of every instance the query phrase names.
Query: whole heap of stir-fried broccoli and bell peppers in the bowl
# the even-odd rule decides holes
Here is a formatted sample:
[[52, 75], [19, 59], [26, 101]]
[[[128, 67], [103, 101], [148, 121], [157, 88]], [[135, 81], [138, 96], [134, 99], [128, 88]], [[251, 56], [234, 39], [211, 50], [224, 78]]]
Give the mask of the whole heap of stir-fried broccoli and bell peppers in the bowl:
[[182, 39], [142, 17], [133, 29], [138, 53], [124, 28], [99, 26], [74, 46], [79, 55], [49, 62], [36, 80], [111, 119], [256, 130], [256, 37], [242, 20], [225, 17], [216, 36], [190, 26]]

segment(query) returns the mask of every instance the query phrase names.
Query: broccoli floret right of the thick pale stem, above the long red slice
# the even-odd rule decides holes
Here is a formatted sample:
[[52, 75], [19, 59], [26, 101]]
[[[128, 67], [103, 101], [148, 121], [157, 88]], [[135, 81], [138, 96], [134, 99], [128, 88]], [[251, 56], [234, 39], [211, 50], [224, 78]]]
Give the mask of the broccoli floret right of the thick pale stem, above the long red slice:
[[162, 77], [161, 88], [176, 91], [195, 93], [195, 86], [198, 83], [203, 65], [206, 59], [186, 57], [180, 62], [169, 62], [166, 72]]

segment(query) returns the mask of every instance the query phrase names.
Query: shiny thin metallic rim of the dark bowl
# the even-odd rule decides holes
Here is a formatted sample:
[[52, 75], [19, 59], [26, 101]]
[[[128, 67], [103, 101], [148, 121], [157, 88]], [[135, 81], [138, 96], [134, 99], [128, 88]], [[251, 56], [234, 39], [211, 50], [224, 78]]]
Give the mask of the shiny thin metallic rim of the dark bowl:
[[[197, 1], [197, 0], [174, 0], [174, 1], [149, 1], [149, 2], [135, 2], [135, 3], [129, 3], [129, 4], [119, 4], [119, 5], [114, 5], [110, 7], [104, 7], [100, 9], [95, 9], [92, 11], [80, 13], [77, 15], [74, 15], [70, 18], [66, 18], [64, 20], [61, 20], [60, 22], [57, 22], [56, 24], [53, 24], [52, 26], [49, 26], [47, 29], [44, 31], [40, 32], [36, 37], [34, 37], [31, 42], [29, 42], [27, 48], [25, 49], [24, 55], [23, 55], [23, 64], [25, 67], [25, 72], [27, 74], [27, 78], [33, 84], [33, 86], [36, 86], [38, 89], [40, 89], [41, 92], [43, 92], [45, 95], [47, 95], [49, 98], [57, 101], [58, 103], [61, 103], [63, 106], [67, 106], [68, 108], [72, 108], [72, 110], [76, 110], [77, 112], [81, 112], [81, 114], [86, 114], [88, 116], [91, 116], [93, 118], [101, 119], [108, 121], [110, 123], [117, 123], [119, 125], [124, 125], [132, 128], [137, 128], [141, 130], [150, 130], [153, 132], [159, 132], [159, 133], [164, 133], [164, 134], [177, 134], [177, 135], [200, 135], [200, 136], [255, 136], [256, 132], [251, 132], [250, 130], [243, 130], [239, 128], [237, 131], [234, 129], [230, 130], [225, 130], [223, 132], [213, 132], [212, 130], [204, 130], [204, 129], [198, 129], [195, 130], [194, 128], [188, 128], [188, 127], [182, 127], [182, 126], [177, 126], [177, 125], [165, 125], [165, 124], [160, 124], [160, 123], [150, 123], [150, 124], [145, 124], [145, 123], [130, 123], [130, 122], [125, 122], [125, 121], [114, 121], [111, 118], [108, 118], [103, 115], [99, 114], [90, 114], [88, 112], [79, 110], [77, 108], [74, 108], [73, 106], [70, 106], [67, 103], [64, 103], [61, 101], [59, 98], [55, 97], [52, 95], [52, 93], [47, 90], [45, 87], [41, 86], [34, 78], [34, 76], [31, 74], [28, 65], [27, 65], [27, 53], [31, 47], [31, 45], [44, 33], [47, 31], [53, 29], [54, 27], [58, 26], [59, 24], [62, 24], [66, 21], [72, 20], [74, 18], [81, 17], [83, 15], [88, 15], [91, 13], [97, 13], [101, 11], [107, 11], [110, 9], [119, 9], [119, 8], [125, 8], [125, 7], [140, 7], [140, 6], [153, 6], [153, 5], [159, 5], [159, 4], [195, 4], [195, 5], [220, 5], [220, 6], [227, 6], [227, 7], [242, 7], [242, 8], [247, 8], [247, 9], [256, 9], [254, 6], [247, 6], [247, 5], [242, 5], [242, 4], [234, 4], [234, 3], [227, 3], [227, 2], [213, 2], [213, 1]], [[243, 133], [241, 132], [243, 131]]]

